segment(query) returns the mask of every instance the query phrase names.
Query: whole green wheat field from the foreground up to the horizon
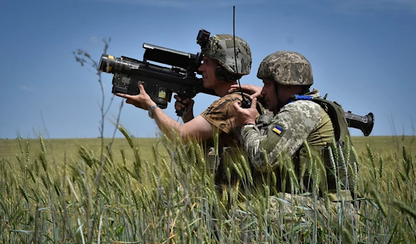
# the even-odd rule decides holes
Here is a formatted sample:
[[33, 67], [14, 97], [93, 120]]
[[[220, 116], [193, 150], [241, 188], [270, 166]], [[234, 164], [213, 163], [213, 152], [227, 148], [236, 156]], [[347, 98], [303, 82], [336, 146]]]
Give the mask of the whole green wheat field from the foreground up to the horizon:
[[236, 212], [246, 203], [252, 243], [415, 243], [415, 140], [352, 138], [362, 197], [353, 231], [343, 218], [272, 222], [270, 177], [251, 189], [247, 162], [236, 157], [230, 169], [241, 179], [218, 191], [196, 142], [0, 140], [0, 243], [239, 243]]

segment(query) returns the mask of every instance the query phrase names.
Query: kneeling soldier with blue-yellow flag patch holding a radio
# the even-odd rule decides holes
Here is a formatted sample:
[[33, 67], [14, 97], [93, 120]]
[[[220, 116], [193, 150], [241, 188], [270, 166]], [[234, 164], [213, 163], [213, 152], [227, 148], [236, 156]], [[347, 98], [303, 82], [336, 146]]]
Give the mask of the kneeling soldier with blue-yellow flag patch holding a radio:
[[[242, 126], [241, 137], [253, 167], [259, 172], [277, 172], [277, 185], [272, 187], [276, 187], [281, 192], [278, 197], [287, 202], [270, 198], [270, 218], [272, 221], [283, 219], [281, 226], [291, 221], [308, 223], [314, 212], [320, 212], [327, 220], [332, 216], [331, 223], [340, 218], [340, 222], [351, 220], [356, 214], [352, 204], [356, 196], [352, 169], [356, 165], [354, 157], [347, 158], [351, 140], [343, 109], [320, 98], [315, 88], [310, 91], [313, 84], [311, 64], [300, 53], [278, 51], [268, 55], [260, 64], [257, 77], [263, 80], [263, 88], [245, 88], [252, 90], [253, 104], [257, 97], [263, 97], [266, 109], [273, 111], [268, 130], [262, 134], [255, 125], [254, 106], [242, 109], [239, 101], [234, 104], [235, 121]], [[231, 90], [234, 88], [232, 86]], [[279, 171], [282, 168], [287, 174]], [[324, 180], [313, 178], [315, 172], [323, 175]], [[286, 185], [281, 184], [284, 178]], [[297, 194], [293, 194], [290, 182]], [[314, 194], [300, 196], [304, 192]], [[318, 198], [315, 199], [315, 195]], [[341, 203], [345, 205], [344, 212], [337, 212]], [[297, 216], [293, 206], [312, 211], [305, 210]], [[299, 211], [299, 208], [295, 209]], [[329, 214], [330, 209], [332, 214]]]

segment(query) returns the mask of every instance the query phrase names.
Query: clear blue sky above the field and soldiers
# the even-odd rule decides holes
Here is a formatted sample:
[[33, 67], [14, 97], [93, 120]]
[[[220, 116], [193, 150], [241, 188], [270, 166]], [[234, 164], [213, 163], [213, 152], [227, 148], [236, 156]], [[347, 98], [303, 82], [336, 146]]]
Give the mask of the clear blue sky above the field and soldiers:
[[[71, 0], [2, 1], [0, 21], [0, 138], [96, 138], [104, 93], [105, 137], [122, 137], [120, 122], [137, 138], [158, 133], [148, 112], [113, 97], [112, 75], [73, 55], [98, 62], [107, 54], [142, 60], [144, 43], [196, 54], [203, 28], [235, 34], [252, 50], [252, 70], [241, 84], [262, 86], [261, 60], [277, 50], [311, 62], [321, 95], [358, 115], [374, 113], [371, 135], [414, 135], [416, 124], [415, 0]], [[194, 114], [216, 97], [198, 94]], [[112, 101], [112, 102], [111, 102]], [[174, 99], [164, 109], [174, 120]], [[363, 135], [350, 129], [352, 135]]]

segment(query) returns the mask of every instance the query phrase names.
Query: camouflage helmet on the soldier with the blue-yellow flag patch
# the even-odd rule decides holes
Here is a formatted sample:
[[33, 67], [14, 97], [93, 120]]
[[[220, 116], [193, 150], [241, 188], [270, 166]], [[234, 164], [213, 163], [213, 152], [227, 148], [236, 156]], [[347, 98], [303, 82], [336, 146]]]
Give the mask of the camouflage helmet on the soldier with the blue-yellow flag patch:
[[283, 85], [311, 85], [311, 63], [300, 53], [278, 51], [267, 55], [257, 71], [259, 79], [272, 79]]

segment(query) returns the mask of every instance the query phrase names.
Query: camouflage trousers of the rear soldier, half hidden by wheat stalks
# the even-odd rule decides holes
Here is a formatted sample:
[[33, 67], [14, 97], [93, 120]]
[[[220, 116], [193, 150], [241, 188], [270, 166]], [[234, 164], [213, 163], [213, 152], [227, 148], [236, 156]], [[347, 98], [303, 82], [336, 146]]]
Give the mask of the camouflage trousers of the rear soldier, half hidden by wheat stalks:
[[[262, 207], [262, 203], [266, 201], [268, 209]], [[337, 238], [345, 234], [343, 229], [352, 233], [358, 225], [358, 214], [352, 203], [334, 203], [325, 201], [324, 198], [288, 193], [241, 203], [234, 214], [242, 243], [266, 243], [267, 234], [269, 243], [310, 243], [314, 228], [326, 231], [332, 229], [331, 243], [339, 243]], [[250, 227], [253, 223], [266, 225], [268, 231], [259, 235], [256, 228]], [[319, 235], [320, 231], [317, 233]]]

